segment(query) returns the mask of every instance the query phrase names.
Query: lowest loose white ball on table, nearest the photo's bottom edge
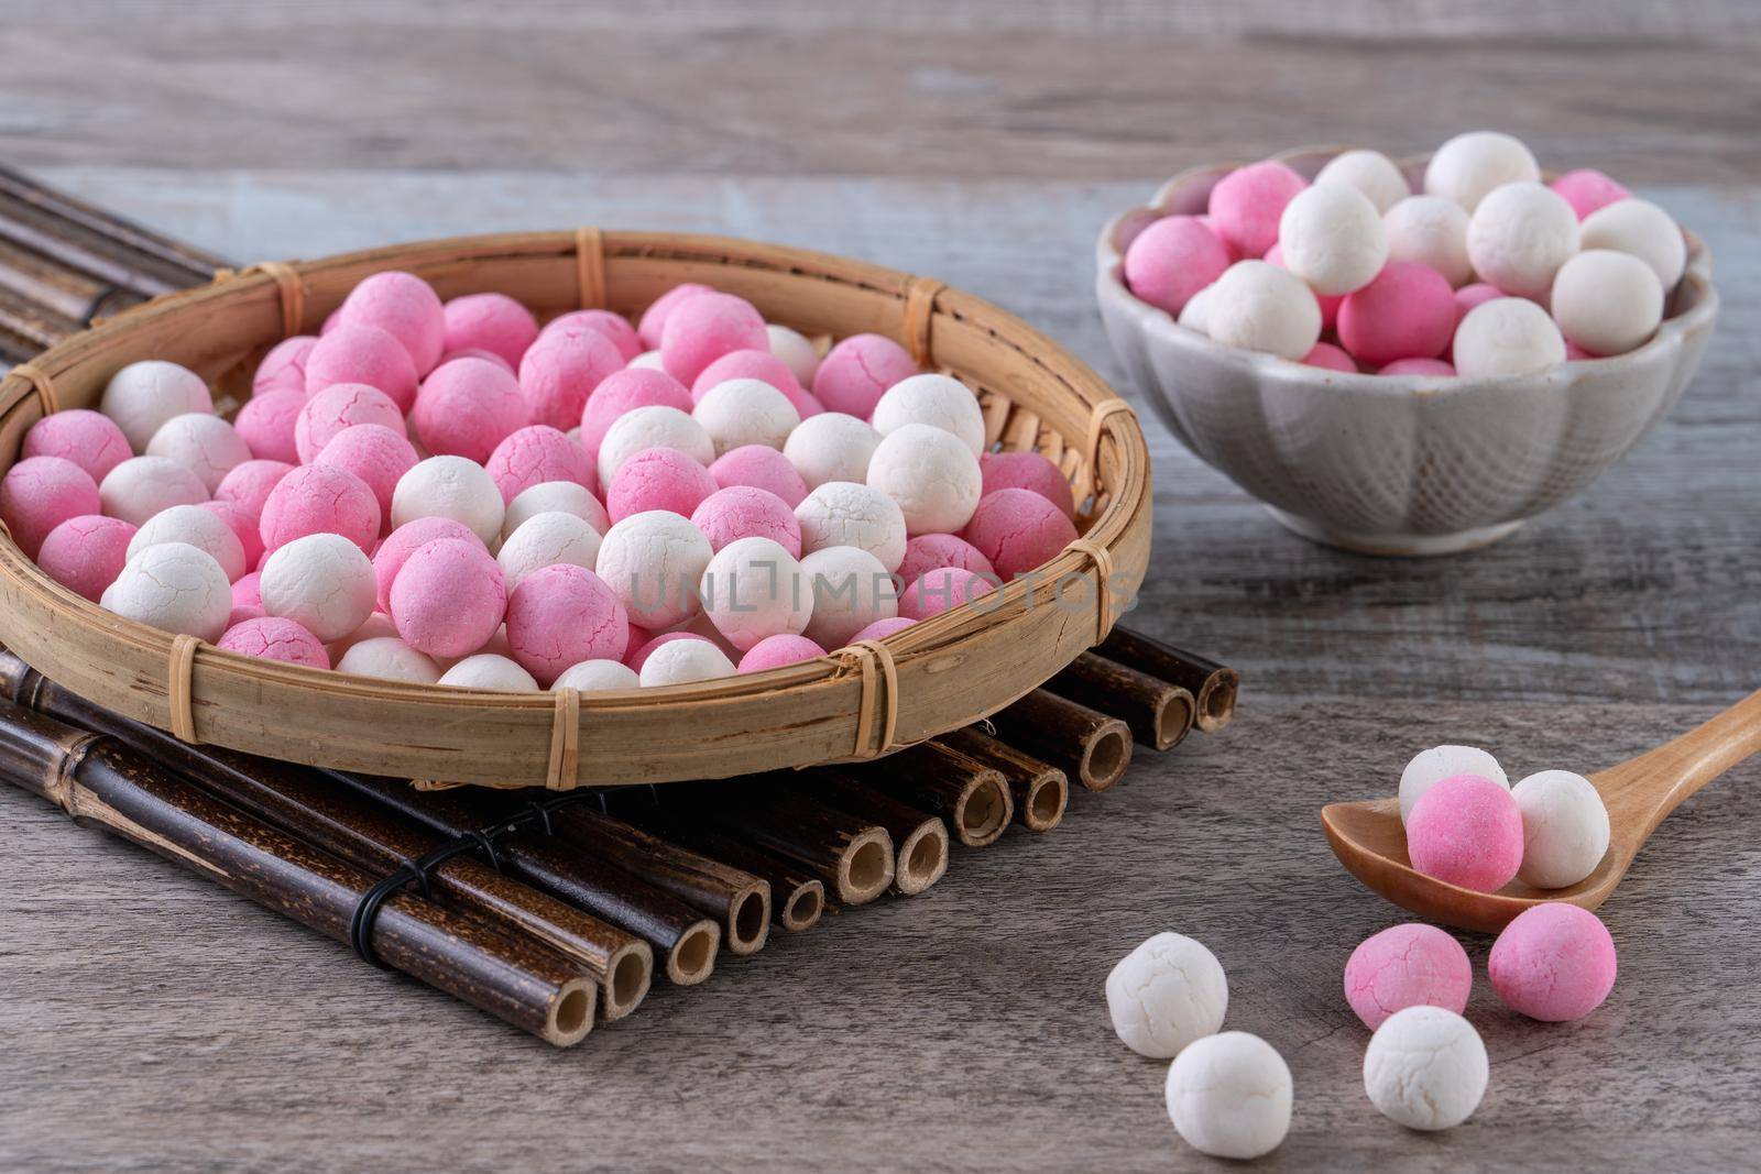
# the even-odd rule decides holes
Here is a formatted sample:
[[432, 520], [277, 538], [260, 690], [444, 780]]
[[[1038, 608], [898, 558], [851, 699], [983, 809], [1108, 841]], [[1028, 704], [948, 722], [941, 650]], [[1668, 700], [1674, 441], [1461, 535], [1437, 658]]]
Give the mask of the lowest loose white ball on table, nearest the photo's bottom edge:
[[1213, 1158], [1268, 1155], [1291, 1132], [1291, 1067], [1247, 1031], [1206, 1035], [1175, 1056], [1166, 1097], [1175, 1132]]

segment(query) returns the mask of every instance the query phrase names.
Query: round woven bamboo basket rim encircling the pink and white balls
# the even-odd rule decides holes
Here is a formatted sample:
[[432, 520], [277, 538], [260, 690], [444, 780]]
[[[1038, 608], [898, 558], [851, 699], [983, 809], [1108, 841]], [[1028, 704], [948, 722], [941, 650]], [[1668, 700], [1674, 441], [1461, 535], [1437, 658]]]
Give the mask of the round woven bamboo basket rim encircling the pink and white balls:
[[[979, 720], [1069, 664], [1136, 593], [1150, 549], [1150, 459], [1136, 415], [1083, 363], [997, 306], [810, 250], [669, 232], [516, 232], [222, 271], [39, 356], [0, 382], [0, 472], [46, 408], [90, 407], [120, 366], [173, 359], [243, 384], [370, 273], [442, 297], [502, 290], [541, 317], [636, 313], [682, 282], [752, 301], [808, 334], [880, 333], [979, 396], [988, 440], [1072, 479], [1081, 539], [1014, 581], [884, 642], [761, 674], [616, 693], [495, 693], [305, 669], [123, 620], [53, 583], [0, 533], [0, 641], [62, 685], [176, 732], [336, 769], [493, 787], [653, 783], [875, 757]], [[1102, 588], [1102, 583], [1106, 584]]]

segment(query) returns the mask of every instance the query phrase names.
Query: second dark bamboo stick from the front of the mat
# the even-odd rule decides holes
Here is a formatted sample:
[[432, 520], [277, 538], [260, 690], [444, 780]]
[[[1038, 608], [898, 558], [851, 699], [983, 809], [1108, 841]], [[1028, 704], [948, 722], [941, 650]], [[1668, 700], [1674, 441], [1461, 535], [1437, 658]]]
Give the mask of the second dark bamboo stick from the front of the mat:
[[[377, 875], [440, 845], [435, 836], [387, 815], [305, 767], [220, 746], [192, 746], [164, 730], [118, 716], [72, 693], [0, 649], [0, 690], [58, 722], [114, 737], [208, 794], [275, 824], [312, 847]], [[590, 970], [601, 986], [599, 1017], [622, 1019], [646, 996], [653, 972], [648, 943], [581, 910], [504, 877], [483, 861], [453, 857], [430, 873], [444, 903], [527, 933]]]

